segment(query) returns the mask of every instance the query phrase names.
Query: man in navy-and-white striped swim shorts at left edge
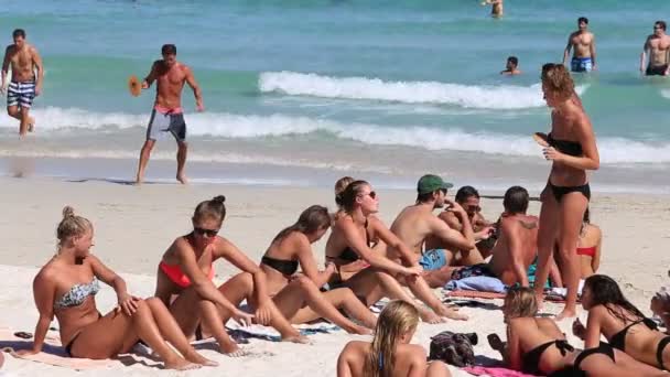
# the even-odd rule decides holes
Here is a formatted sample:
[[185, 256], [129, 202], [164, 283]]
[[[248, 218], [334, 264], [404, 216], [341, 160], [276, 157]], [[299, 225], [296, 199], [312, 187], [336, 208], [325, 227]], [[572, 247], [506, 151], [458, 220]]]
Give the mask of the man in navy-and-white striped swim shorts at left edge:
[[[7, 90], [7, 114], [20, 121], [19, 136], [24, 137], [34, 128], [35, 119], [29, 115], [29, 111], [33, 99], [42, 94], [44, 67], [37, 49], [25, 42], [25, 31], [14, 30], [12, 37], [14, 43], [7, 46], [4, 51], [0, 91], [4, 94]], [[7, 75], [10, 66], [12, 77], [8, 87]], [[36, 78], [35, 69], [37, 71]]]

